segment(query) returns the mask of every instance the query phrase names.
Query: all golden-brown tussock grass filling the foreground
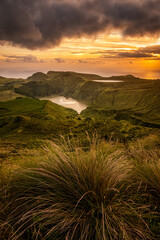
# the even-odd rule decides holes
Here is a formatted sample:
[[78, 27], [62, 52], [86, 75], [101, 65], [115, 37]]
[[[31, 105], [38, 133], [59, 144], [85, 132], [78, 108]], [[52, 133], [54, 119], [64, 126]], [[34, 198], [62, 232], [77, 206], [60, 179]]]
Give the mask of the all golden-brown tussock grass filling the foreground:
[[86, 141], [2, 164], [1, 239], [159, 239], [159, 136]]

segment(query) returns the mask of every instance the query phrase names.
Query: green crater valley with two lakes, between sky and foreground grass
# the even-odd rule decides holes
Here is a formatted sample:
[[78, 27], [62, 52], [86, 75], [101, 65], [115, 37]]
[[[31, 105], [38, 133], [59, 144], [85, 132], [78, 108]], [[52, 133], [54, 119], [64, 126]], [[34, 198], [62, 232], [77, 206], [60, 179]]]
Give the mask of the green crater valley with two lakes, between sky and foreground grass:
[[12, 151], [19, 140], [30, 148], [63, 135], [85, 145], [87, 132], [127, 144], [160, 132], [160, 80], [53, 71], [0, 80], [1, 160], [19, 155], [7, 141]]

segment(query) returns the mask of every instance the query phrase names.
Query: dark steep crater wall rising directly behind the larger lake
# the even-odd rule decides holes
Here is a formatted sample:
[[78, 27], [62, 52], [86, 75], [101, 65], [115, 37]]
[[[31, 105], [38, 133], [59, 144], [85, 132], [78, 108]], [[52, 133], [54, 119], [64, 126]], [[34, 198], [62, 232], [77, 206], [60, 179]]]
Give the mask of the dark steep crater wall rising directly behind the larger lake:
[[64, 72], [44, 75], [34, 74], [28, 78], [29, 82], [15, 88], [15, 92], [30, 97], [44, 97], [53, 94], [71, 96], [85, 82], [84, 78], [76, 73]]

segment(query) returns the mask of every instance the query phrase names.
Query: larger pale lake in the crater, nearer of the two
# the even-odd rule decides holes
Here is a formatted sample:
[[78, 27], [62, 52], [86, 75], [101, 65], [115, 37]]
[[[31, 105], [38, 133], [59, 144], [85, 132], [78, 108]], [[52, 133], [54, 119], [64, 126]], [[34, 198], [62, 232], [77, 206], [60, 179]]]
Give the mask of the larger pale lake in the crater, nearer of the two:
[[79, 102], [73, 98], [65, 98], [64, 96], [54, 95], [44, 97], [43, 99], [50, 100], [51, 102], [57, 103], [63, 107], [72, 108], [76, 110], [78, 114], [88, 107], [85, 103]]

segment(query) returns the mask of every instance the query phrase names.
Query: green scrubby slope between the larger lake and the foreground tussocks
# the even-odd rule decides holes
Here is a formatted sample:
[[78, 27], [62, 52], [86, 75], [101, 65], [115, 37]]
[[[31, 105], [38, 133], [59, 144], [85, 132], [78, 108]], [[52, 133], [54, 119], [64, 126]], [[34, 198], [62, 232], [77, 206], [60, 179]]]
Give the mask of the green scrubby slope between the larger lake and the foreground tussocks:
[[[86, 132], [100, 139], [128, 141], [153, 133], [155, 130], [135, 126], [127, 121], [117, 121], [99, 116], [78, 115], [46, 100], [19, 98], [0, 102], [0, 162], [19, 159], [24, 151], [32, 154], [47, 139], [57, 139], [62, 134], [77, 138], [86, 147]], [[156, 130], [157, 131], [157, 130]]]

